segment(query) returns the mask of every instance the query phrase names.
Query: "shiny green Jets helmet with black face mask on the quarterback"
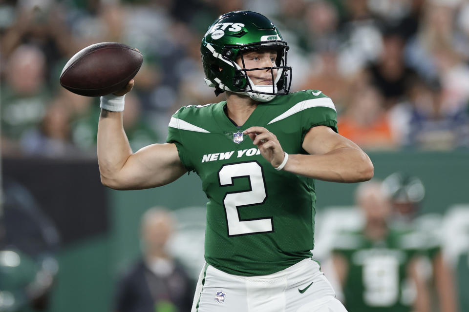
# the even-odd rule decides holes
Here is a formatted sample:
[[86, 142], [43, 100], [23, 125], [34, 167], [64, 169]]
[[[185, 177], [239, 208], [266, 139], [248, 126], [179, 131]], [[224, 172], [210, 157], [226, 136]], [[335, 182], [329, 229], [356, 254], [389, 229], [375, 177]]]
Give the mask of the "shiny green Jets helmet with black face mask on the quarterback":
[[[276, 66], [245, 69], [236, 63], [241, 58], [244, 64], [243, 53], [263, 48], [277, 51]], [[200, 46], [205, 82], [215, 88], [216, 95], [229, 91], [260, 102], [286, 95], [292, 79], [288, 49], [277, 27], [265, 16], [251, 11], [223, 14], [209, 27]], [[253, 70], [270, 70], [273, 84], [255, 85], [247, 74]]]

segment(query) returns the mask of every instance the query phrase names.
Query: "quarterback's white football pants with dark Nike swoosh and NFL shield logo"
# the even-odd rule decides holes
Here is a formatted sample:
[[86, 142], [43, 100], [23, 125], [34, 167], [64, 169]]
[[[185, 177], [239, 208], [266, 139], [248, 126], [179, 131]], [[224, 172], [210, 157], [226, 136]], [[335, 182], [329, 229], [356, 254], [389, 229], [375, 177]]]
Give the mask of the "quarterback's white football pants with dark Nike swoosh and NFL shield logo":
[[277, 273], [232, 275], [206, 264], [191, 312], [347, 312], [319, 264], [308, 258]]

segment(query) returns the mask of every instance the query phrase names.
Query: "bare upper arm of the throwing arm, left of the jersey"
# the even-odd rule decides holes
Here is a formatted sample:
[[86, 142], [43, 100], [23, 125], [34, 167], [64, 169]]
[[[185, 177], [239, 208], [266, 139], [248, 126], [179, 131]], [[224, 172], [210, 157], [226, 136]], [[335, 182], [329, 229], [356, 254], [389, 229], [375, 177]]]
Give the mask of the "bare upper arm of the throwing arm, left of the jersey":
[[126, 190], [157, 187], [171, 183], [186, 172], [175, 144], [152, 144], [129, 156], [115, 184], [108, 186]]

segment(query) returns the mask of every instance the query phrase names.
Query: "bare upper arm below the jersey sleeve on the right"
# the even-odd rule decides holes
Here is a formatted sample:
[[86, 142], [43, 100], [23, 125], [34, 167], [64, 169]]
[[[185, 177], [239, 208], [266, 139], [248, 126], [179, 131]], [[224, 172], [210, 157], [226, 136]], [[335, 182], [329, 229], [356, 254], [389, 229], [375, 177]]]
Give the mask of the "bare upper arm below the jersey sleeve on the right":
[[357, 144], [327, 126], [316, 126], [309, 129], [304, 137], [302, 147], [311, 155], [322, 155], [343, 147], [360, 149]]

